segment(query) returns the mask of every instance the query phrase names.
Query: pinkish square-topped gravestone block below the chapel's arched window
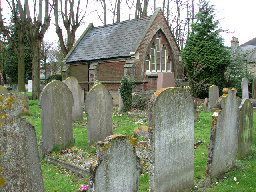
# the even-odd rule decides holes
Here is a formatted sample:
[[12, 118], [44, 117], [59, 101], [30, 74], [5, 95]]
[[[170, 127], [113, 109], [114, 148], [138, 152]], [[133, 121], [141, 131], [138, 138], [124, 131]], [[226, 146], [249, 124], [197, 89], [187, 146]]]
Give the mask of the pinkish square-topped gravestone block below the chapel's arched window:
[[166, 87], [175, 87], [174, 73], [157, 73], [157, 90]]

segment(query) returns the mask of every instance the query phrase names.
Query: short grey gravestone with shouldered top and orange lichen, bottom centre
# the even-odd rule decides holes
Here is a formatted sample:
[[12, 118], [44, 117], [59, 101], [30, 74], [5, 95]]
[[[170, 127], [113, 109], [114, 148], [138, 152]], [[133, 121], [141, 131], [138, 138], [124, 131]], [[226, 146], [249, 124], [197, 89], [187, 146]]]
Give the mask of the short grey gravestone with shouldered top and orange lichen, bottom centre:
[[96, 142], [97, 159], [90, 164], [89, 192], [138, 192], [140, 159], [136, 142], [124, 135]]

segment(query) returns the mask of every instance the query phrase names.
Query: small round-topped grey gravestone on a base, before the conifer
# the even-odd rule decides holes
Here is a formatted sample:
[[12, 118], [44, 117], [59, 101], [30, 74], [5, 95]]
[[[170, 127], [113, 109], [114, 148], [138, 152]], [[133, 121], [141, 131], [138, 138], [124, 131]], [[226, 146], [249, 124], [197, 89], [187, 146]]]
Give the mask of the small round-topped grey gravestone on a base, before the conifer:
[[217, 109], [216, 101], [219, 98], [219, 87], [216, 85], [212, 85], [209, 87], [209, 102], [208, 108], [205, 110], [206, 112], [213, 112]]

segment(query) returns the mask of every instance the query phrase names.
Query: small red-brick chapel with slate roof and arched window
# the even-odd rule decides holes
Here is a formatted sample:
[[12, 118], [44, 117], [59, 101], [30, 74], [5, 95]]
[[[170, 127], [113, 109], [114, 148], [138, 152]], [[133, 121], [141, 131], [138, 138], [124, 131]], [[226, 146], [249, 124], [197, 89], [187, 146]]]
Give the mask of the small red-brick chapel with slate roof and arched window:
[[86, 28], [64, 58], [62, 79], [77, 78], [88, 92], [99, 80], [118, 104], [123, 76], [135, 78], [135, 93], [156, 91], [159, 72], [183, 78], [180, 49], [160, 8], [152, 16]]

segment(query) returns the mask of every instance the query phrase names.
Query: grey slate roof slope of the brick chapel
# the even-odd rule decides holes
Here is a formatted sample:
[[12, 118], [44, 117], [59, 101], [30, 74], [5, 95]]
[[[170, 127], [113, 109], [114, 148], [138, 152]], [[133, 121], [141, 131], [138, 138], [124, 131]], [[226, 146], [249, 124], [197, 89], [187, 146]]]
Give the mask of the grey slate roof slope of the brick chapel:
[[129, 56], [149, 21], [150, 16], [90, 28], [66, 63]]

